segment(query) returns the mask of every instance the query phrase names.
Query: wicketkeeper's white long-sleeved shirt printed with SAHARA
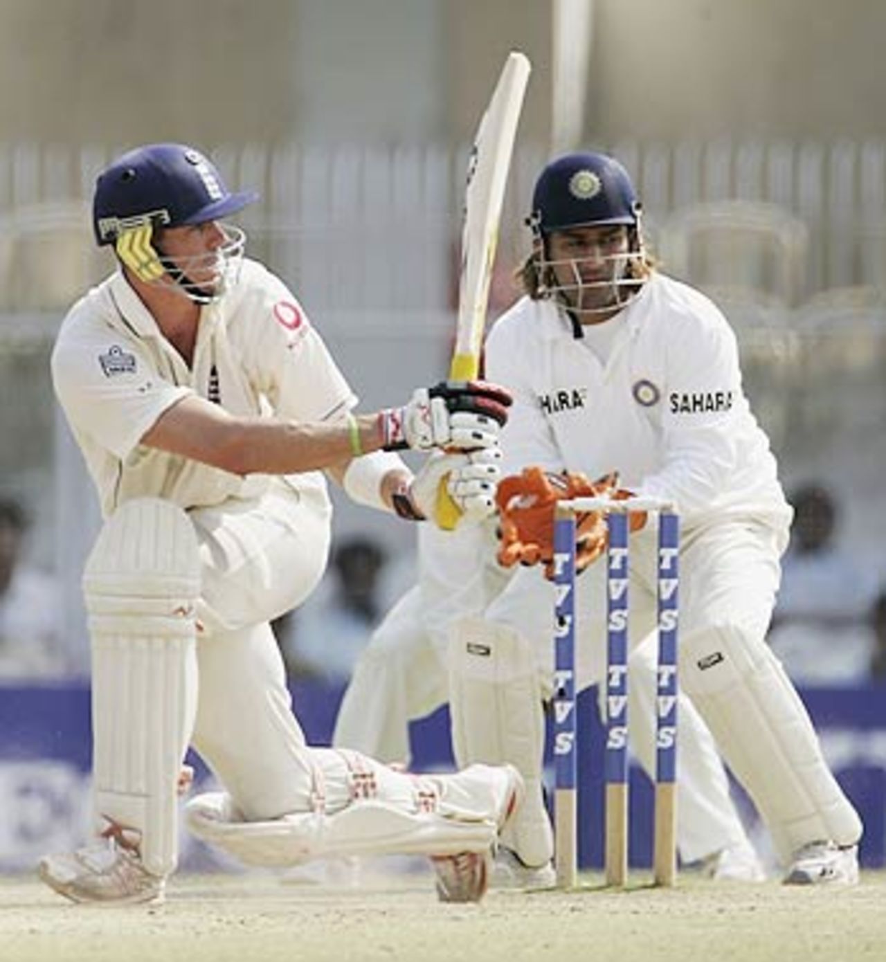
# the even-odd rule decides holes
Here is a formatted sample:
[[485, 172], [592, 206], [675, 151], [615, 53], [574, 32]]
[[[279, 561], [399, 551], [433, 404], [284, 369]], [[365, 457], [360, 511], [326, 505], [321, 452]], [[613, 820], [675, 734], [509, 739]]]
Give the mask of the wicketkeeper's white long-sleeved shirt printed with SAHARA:
[[605, 364], [566, 312], [523, 297], [487, 339], [486, 374], [515, 394], [504, 471], [611, 470], [637, 494], [672, 498], [684, 521], [791, 519], [769, 439], [750, 412], [732, 329], [703, 294], [655, 273], [605, 321]]

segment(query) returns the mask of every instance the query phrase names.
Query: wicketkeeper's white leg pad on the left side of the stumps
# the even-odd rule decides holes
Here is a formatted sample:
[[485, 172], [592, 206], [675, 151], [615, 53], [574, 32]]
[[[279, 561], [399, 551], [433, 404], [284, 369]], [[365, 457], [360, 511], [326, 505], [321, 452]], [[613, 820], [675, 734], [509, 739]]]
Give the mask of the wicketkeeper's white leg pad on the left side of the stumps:
[[544, 707], [530, 643], [504, 625], [479, 618], [456, 621], [449, 636], [449, 713], [460, 766], [509, 763], [526, 791], [502, 833], [527, 866], [553, 857], [553, 832], [544, 805]]

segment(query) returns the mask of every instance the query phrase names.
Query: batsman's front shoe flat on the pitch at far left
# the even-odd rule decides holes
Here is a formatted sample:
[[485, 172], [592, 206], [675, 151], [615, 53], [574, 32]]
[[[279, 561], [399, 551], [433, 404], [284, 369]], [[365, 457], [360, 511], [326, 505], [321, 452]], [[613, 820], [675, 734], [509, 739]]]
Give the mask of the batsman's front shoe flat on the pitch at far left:
[[125, 829], [114, 831], [100, 842], [62, 855], [40, 859], [38, 875], [65, 899], [100, 905], [160, 904], [165, 877], [153, 875], [141, 864], [138, 848], [125, 840]]

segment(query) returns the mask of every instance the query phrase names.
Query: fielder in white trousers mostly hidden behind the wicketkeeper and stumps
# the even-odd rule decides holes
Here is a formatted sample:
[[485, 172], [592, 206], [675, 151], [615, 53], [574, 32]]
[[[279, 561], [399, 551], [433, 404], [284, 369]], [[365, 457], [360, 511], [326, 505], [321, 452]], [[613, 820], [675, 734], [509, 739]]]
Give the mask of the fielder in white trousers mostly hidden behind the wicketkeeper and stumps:
[[[449, 697], [446, 649], [452, 625], [483, 614], [512, 571], [495, 560], [495, 522], [443, 531], [418, 529], [418, 584], [403, 595], [372, 633], [342, 698], [333, 744], [359, 748], [386, 762], [408, 764], [409, 722], [429, 715]], [[655, 771], [655, 643], [631, 657], [628, 718], [631, 745], [651, 777]], [[605, 690], [599, 692], [603, 711]], [[541, 700], [541, 698], [540, 698]], [[684, 865], [706, 877], [762, 881], [710, 732], [692, 703], [680, 696], [677, 756], [677, 847]], [[546, 888], [553, 868], [527, 868], [509, 848], [495, 854], [497, 888]]]

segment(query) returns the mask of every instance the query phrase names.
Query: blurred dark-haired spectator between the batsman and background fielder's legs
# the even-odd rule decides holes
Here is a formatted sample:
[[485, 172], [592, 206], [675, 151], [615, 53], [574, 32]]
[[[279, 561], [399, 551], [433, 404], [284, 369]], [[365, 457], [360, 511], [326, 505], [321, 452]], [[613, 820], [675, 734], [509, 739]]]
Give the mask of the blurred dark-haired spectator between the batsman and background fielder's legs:
[[334, 683], [350, 679], [384, 610], [381, 582], [388, 557], [361, 536], [334, 549], [328, 584], [282, 626], [278, 638], [291, 675]]

